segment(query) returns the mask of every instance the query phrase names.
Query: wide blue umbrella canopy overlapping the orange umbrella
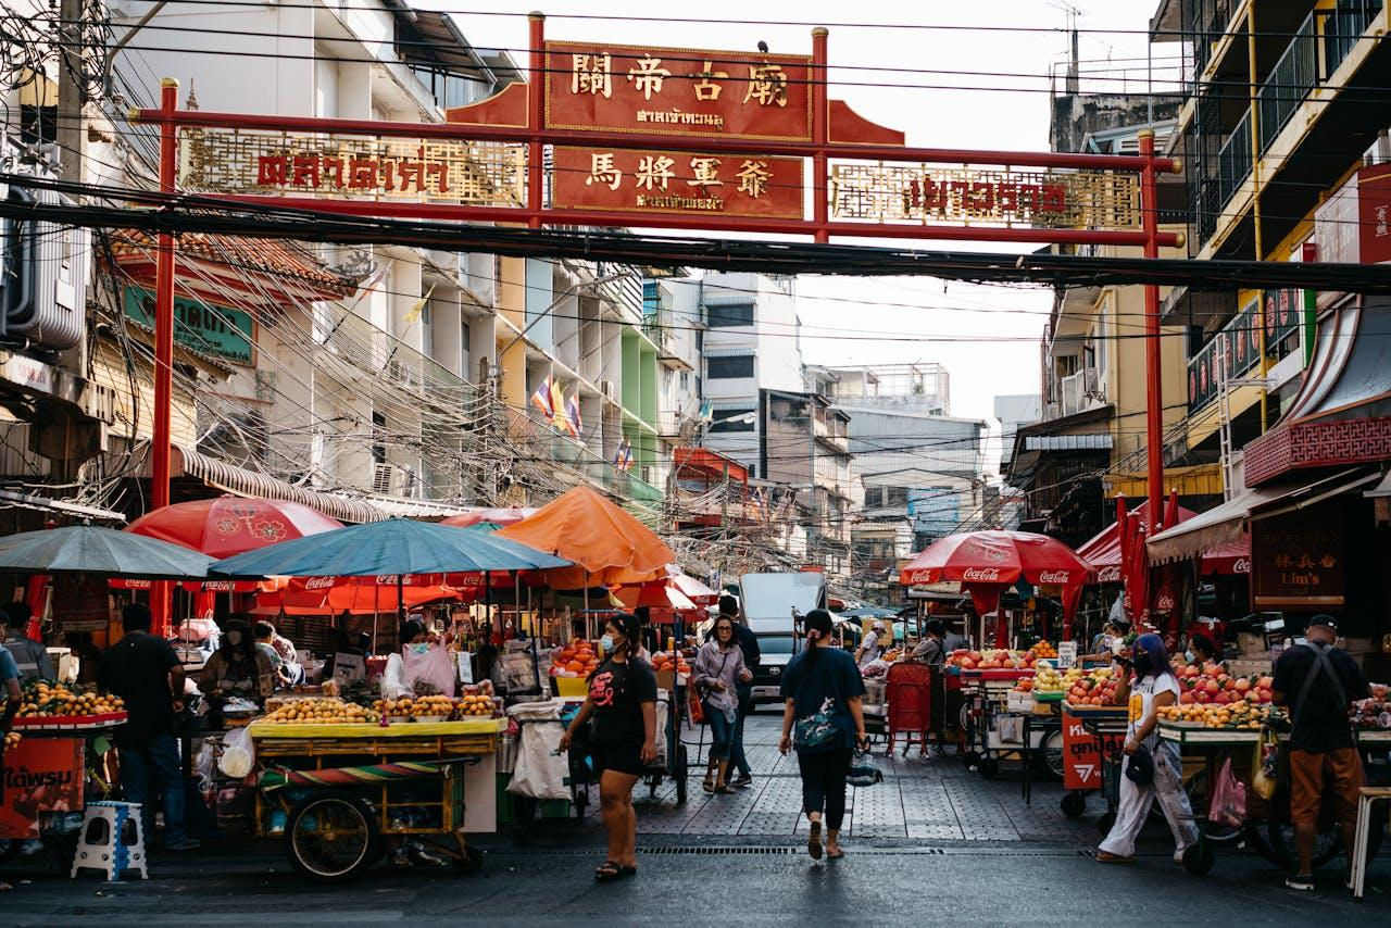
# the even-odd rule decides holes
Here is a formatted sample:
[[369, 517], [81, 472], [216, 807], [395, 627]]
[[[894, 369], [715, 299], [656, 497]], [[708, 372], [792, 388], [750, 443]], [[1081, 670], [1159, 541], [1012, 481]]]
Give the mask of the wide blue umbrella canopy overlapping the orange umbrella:
[[217, 561], [209, 573], [230, 577], [366, 577], [472, 570], [544, 570], [569, 561], [481, 529], [388, 519], [281, 541]]

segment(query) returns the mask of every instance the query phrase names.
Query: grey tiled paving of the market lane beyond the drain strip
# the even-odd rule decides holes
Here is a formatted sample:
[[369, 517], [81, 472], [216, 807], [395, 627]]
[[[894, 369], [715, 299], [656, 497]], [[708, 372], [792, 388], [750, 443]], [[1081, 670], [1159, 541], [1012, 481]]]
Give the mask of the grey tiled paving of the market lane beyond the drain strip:
[[[746, 750], [754, 768], [754, 785], [733, 796], [701, 792], [701, 771], [691, 771], [687, 801], [676, 804], [670, 782], [658, 786], [651, 801], [638, 783], [638, 831], [652, 835], [791, 836], [807, 826], [798, 814], [801, 781], [796, 755], [778, 753], [780, 719], [761, 714], [750, 719]], [[694, 737], [694, 733], [687, 733]], [[694, 749], [694, 746], [691, 746]], [[876, 751], [885, 781], [847, 794], [849, 835], [924, 840], [1035, 840], [1091, 845], [1097, 839], [1100, 797], [1088, 803], [1089, 815], [1070, 819], [1059, 808], [1061, 785], [1035, 778], [1034, 801], [1024, 803], [1017, 764], [1004, 764], [995, 781], [967, 771], [954, 755], [924, 761], [912, 749], [907, 758], [886, 758]], [[901, 749], [900, 749], [901, 750]], [[694, 757], [694, 750], [691, 750]], [[594, 796], [597, 800], [597, 794]], [[594, 810], [597, 811], [597, 810]]]

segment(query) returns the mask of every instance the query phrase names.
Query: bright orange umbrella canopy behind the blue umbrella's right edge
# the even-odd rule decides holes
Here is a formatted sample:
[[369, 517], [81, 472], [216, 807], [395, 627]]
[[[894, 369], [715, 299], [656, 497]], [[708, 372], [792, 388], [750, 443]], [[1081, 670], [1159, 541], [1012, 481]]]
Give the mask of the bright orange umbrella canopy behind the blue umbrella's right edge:
[[676, 561], [651, 529], [588, 487], [570, 490], [497, 536], [573, 561], [574, 566], [545, 572], [559, 590], [651, 583]]

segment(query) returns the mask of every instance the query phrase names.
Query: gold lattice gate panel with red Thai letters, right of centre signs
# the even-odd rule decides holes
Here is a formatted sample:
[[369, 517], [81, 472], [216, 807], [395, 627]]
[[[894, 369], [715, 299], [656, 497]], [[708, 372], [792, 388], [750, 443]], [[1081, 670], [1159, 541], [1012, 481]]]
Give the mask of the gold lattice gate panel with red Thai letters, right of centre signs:
[[829, 213], [860, 223], [1138, 230], [1136, 174], [836, 163]]

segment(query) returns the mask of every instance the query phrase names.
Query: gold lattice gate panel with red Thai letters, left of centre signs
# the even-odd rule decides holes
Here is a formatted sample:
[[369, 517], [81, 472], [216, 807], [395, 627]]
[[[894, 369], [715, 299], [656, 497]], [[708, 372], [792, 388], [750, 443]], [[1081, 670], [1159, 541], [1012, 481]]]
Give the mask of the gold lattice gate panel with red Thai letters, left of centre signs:
[[192, 129], [179, 174], [181, 186], [223, 193], [519, 206], [526, 146]]

